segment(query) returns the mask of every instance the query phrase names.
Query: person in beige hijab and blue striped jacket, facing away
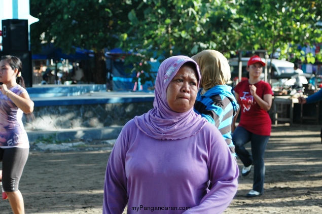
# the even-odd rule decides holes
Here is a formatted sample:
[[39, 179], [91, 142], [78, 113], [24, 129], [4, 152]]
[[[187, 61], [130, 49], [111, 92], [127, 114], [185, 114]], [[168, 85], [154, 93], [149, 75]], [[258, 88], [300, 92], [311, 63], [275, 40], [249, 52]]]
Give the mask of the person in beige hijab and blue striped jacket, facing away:
[[232, 142], [231, 124], [237, 114], [238, 104], [232, 88], [226, 83], [230, 80], [230, 66], [226, 57], [215, 50], [204, 50], [192, 57], [199, 65], [201, 80], [194, 110], [215, 125], [234, 158], [235, 145]]

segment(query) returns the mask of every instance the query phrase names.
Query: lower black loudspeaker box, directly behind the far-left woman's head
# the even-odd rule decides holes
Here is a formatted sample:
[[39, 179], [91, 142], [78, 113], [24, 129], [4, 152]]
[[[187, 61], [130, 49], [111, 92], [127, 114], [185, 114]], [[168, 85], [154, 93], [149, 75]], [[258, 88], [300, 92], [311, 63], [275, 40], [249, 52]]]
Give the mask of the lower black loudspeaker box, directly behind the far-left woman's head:
[[25, 82], [26, 88], [32, 87], [32, 55], [30, 51], [3, 51], [0, 56], [12, 55], [18, 57], [22, 62], [21, 76]]

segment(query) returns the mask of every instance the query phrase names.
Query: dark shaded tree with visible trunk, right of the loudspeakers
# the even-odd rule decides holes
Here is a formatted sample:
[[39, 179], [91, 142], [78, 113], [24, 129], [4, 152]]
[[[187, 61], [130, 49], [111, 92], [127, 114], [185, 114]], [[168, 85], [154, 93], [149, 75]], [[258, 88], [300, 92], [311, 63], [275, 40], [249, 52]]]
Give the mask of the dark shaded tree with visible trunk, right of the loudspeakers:
[[127, 22], [126, 1], [30, 0], [30, 14], [39, 22], [30, 26], [31, 49], [39, 52], [41, 43], [73, 53], [73, 47], [94, 50], [95, 83], [105, 83], [104, 49], [118, 42], [117, 32]]

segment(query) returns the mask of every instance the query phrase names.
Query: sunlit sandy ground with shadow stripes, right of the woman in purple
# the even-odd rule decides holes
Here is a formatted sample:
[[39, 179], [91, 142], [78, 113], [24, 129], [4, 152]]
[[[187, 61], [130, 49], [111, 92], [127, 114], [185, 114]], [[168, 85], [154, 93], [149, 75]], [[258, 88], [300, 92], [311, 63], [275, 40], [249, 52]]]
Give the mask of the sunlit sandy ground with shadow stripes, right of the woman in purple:
[[245, 198], [253, 173], [240, 176], [237, 195], [225, 213], [322, 213], [320, 128], [273, 127], [265, 152], [264, 195]]

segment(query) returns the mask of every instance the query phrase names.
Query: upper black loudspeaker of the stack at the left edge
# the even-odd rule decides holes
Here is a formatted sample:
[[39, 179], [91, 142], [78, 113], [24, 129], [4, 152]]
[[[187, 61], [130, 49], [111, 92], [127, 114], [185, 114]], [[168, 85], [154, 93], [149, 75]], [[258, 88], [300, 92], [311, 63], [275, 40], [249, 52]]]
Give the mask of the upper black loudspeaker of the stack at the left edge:
[[2, 20], [3, 51], [29, 51], [28, 20]]

